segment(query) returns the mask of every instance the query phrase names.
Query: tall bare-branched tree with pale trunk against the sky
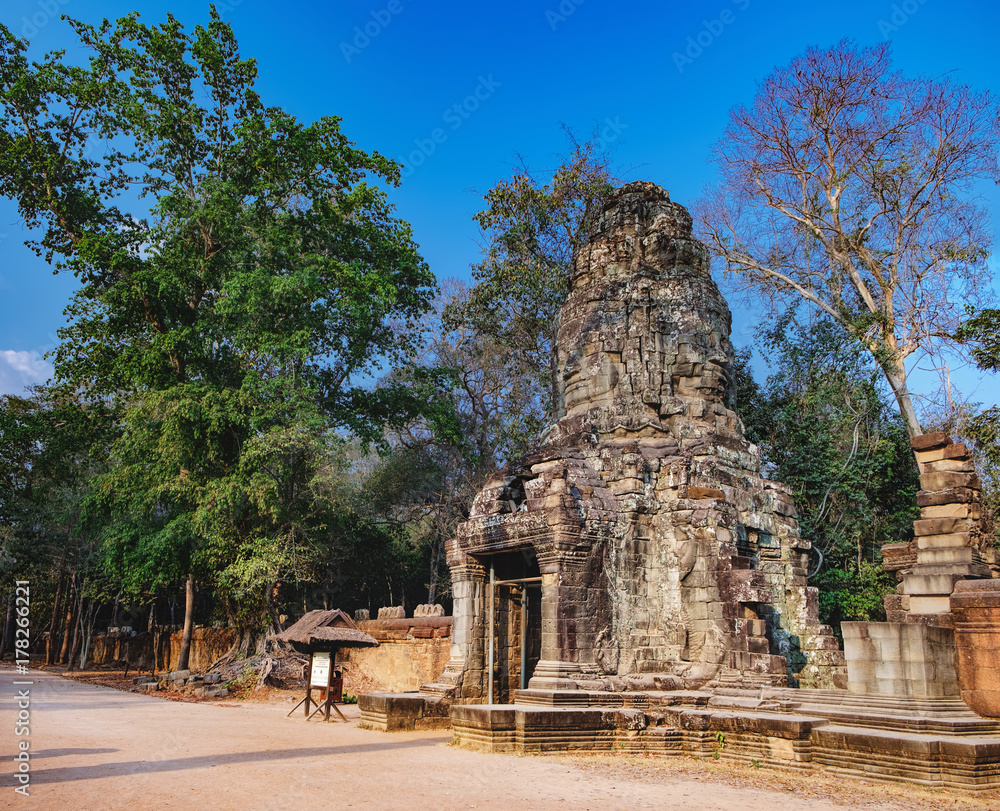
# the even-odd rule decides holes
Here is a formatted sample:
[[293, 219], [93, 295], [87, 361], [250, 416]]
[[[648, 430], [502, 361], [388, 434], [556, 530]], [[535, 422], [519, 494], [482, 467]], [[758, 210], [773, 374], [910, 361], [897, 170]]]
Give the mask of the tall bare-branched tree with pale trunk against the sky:
[[845, 40], [776, 70], [730, 116], [702, 238], [745, 290], [805, 300], [852, 335], [920, 434], [907, 359], [946, 343], [989, 278], [975, 186], [1000, 181], [996, 100]]

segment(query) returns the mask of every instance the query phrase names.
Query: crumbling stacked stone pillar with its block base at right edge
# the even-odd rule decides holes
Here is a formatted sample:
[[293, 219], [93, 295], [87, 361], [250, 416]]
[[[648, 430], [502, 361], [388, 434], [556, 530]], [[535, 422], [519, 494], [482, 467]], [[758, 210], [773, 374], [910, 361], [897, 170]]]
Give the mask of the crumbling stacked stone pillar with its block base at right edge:
[[909, 543], [882, 547], [899, 586], [887, 622], [845, 622], [848, 689], [868, 695], [959, 696], [1000, 717], [1000, 581], [993, 516], [972, 457], [945, 433], [911, 441], [920, 518]]

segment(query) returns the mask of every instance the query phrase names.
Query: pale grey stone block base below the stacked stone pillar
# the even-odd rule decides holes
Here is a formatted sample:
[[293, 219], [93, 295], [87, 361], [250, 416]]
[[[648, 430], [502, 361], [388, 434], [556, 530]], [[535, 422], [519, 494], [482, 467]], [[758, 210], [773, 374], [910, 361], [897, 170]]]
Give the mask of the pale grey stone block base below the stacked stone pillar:
[[847, 689], [914, 698], [958, 695], [955, 632], [908, 622], [845, 622]]

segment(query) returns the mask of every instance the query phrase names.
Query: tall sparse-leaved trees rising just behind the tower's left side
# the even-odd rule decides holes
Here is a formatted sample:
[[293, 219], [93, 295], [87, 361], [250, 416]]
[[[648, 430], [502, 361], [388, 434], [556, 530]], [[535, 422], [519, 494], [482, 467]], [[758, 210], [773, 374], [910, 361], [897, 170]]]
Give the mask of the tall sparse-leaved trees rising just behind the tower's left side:
[[447, 599], [444, 544], [483, 480], [532, 450], [552, 417], [558, 310], [615, 182], [594, 144], [574, 141], [548, 183], [522, 167], [490, 189], [476, 215], [486, 236], [476, 284], [438, 299], [423, 322], [419, 362], [389, 378], [409, 389], [433, 379], [428, 402], [439, 417], [394, 431], [364, 492], [376, 520], [426, 555], [430, 602]]

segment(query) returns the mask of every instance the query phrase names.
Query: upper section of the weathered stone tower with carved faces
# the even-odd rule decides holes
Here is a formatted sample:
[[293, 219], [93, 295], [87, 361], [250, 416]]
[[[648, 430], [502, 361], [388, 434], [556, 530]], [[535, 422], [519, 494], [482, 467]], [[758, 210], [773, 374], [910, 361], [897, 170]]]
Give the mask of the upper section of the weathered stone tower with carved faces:
[[618, 205], [578, 260], [560, 313], [560, 416], [638, 427], [678, 398], [731, 401], [729, 308], [687, 212], [659, 192]]

